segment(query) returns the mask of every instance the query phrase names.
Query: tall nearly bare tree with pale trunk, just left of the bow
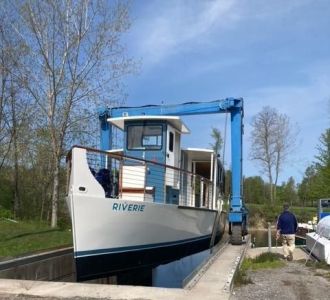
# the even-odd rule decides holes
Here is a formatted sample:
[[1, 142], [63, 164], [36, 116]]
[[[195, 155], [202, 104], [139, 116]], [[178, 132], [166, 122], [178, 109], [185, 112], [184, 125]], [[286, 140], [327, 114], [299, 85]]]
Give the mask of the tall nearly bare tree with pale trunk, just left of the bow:
[[24, 0], [14, 4], [17, 38], [30, 53], [16, 73], [39, 107], [52, 153], [52, 226], [57, 223], [59, 168], [86, 118], [109, 105], [122, 76], [134, 70], [122, 34], [130, 26], [128, 4], [108, 1]]

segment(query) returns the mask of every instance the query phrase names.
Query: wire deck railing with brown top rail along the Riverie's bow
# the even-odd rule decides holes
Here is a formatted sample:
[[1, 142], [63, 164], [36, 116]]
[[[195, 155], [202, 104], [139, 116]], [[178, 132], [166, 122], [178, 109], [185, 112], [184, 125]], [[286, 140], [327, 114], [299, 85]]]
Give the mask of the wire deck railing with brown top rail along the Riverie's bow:
[[[86, 150], [89, 171], [103, 187], [107, 198], [209, 209], [216, 206], [212, 201], [212, 181], [201, 175], [120, 152], [82, 146], [73, 148]], [[69, 168], [71, 157], [70, 152], [67, 157]]]

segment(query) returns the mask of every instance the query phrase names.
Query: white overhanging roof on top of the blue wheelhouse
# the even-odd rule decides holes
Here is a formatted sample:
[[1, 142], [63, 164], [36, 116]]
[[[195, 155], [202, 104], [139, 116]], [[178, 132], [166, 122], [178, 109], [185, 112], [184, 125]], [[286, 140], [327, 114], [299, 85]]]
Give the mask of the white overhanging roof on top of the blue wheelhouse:
[[190, 130], [183, 123], [180, 117], [178, 116], [130, 116], [130, 117], [119, 117], [119, 118], [108, 118], [108, 122], [117, 128], [124, 130], [125, 121], [149, 121], [149, 120], [159, 120], [167, 121], [180, 133], [189, 133]]

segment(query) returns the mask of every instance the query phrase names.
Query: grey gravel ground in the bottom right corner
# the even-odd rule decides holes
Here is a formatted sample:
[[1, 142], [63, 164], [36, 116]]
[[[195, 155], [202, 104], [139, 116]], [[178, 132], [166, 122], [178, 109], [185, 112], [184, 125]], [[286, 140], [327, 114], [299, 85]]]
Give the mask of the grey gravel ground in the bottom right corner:
[[329, 270], [305, 267], [300, 262], [287, 262], [283, 268], [249, 271], [252, 284], [236, 287], [234, 299], [314, 300], [329, 299]]

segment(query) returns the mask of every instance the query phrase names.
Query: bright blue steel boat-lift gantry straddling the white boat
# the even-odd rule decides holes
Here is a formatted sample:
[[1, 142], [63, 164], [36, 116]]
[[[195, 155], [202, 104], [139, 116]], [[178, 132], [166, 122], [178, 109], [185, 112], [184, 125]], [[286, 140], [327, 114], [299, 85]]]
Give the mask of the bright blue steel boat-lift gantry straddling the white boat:
[[231, 117], [231, 157], [232, 157], [232, 195], [228, 214], [231, 243], [240, 245], [242, 236], [247, 234], [248, 212], [242, 199], [242, 136], [243, 99], [226, 98], [211, 102], [187, 102], [175, 105], [146, 105], [139, 107], [114, 107], [99, 111], [101, 128], [101, 149], [112, 148], [112, 125], [108, 118], [128, 116], [189, 116], [216, 113], [230, 113]]

